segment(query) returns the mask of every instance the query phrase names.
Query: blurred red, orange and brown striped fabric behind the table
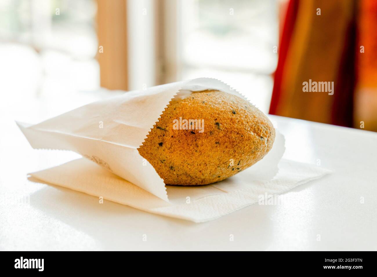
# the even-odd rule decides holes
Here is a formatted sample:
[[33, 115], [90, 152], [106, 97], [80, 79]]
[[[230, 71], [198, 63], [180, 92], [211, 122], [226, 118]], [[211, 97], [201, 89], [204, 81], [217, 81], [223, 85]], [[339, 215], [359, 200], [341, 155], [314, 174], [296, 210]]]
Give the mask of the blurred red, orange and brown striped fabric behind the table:
[[[377, 57], [375, 3], [290, 1], [279, 46], [271, 114], [360, 127], [360, 105], [365, 105], [366, 99], [375, 101], [377, 96], [375, 89], [364, 89], [377, 84], [377, 63], [371, 62], [373, 56]], [[369, 53], [360, 52], [359, 44], [365, 44]], [[359, 78], [362, 72], [368, 80]], [[377, 116], [372, 112], [375, 106], [368, 106], [371, 111], [362, 116], [368, 121], [365, 129], [377, 131], [373, 123]]]

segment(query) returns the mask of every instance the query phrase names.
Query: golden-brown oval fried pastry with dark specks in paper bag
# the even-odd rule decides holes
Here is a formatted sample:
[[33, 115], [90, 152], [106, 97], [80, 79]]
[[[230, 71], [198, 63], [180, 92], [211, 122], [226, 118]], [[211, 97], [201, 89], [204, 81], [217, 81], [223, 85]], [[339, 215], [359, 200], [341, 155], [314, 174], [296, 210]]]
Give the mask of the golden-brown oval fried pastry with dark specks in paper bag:
[[[174, 129], [179, 117], [204, 119], [204, 132]], [[165, 184], [206, 185], [255, 164], [274, 138], [271, 121], [248, 101], [205, 90], [171, 102], [138, 151]]]

